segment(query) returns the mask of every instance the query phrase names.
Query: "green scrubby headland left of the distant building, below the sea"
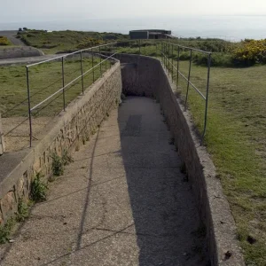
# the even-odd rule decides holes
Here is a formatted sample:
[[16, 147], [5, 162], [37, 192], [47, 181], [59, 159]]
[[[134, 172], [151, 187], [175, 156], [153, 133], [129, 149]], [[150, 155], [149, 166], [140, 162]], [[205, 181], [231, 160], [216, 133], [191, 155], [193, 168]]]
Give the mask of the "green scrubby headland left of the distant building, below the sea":
[[20, 32], [18, 37], [27, 45], [41, 49], [46, 54], [51, 54], [58, 51], [80, 50], [106, 42], [124, 40], [128, 38], [128, 35], [72, 30], [52, 32], [27, 30]]

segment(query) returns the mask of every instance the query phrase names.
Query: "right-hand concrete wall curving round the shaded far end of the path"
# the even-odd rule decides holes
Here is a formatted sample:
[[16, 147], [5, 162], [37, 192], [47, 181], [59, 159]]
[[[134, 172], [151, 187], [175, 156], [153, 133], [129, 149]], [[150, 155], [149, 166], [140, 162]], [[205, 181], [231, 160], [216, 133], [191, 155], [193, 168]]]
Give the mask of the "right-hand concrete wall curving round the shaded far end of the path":
[[[193, 130], [190, 113], [184, 112], [174, 94], [175, 85], [157, 59], [135, 55], [120, 55], [123, 63], [123, 93], [153, 96], [175, 137], [175, 145], [184, 161], [193, 192], [197, 198], [202, 222], [207, 228], [208, 253], [212, 265], [245, 265], [236, 226], [215, 166]], [[127, 64], [126, 64], [127, 63]]]

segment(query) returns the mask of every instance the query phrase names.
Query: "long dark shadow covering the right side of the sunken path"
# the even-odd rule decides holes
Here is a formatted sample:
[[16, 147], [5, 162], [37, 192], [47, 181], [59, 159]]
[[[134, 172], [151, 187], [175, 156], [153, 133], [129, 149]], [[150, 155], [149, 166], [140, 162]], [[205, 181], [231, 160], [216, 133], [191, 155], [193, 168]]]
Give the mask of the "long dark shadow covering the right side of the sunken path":
[[159, 105], [127, 98], [118, 122], [139, 265], [207, 265], [198, 210]]

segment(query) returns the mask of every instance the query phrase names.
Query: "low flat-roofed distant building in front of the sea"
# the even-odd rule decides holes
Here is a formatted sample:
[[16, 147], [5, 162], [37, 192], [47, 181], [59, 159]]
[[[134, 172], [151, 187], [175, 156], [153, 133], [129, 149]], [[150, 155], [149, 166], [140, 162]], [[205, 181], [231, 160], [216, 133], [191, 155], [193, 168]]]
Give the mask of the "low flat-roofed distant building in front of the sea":
[[165, 29], [139, 29], [129, 31], [130, 39], [171, 39], [174, 38], [170, 30]]

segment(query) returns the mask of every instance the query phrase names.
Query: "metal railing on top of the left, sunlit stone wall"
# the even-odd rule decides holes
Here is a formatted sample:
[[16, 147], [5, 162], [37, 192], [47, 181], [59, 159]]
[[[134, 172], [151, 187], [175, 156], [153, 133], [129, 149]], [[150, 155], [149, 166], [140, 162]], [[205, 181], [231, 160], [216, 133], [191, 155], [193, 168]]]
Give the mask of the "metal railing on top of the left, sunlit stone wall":
[[[116, 54], [116, 52], [113, 51], [116, 43], [107, 43], [95, 47], [91, 47], [88, 49], [83, 49], [80, 51], [74, 51], [72, 53], [68, 53], [63, 56], [59, 56], [57, 58], [53, 59], [47, 59], [43, 60], [42, 62], [34, 63], [31, 65], [26, 66], [26, 76], [27, 76], [27, 110], [28, 110], [28, 121], [29, 121], [29, 146], [32, 146], [32, 140], [33, 140], [33, 123], [32, 123], [32, 113], [35, 111], [38, 107], [43, 106], [43, 104], [47, 103], [51, 98], [56, 97], [59, 94], [62, 94], [62, 110], [66, 111], [66, 90], [74, 84], [74, 82], [77, 82], [79, 80], [82, 81], [82, 88], [81, 93], [84, 94], [84, 81], [83, 78], [87, 74], [92, 74], [92, 82], [94, 83], [96, 81], [95, 78], [95, 70], [99, 67], [100, 77], [103, 76], [103, 65], [107, 65], [107, 61], [118, 61], [117, 59], [114, 59], [113, 56]], [[102, 54], [103, 48], [108, 48], [108, 50], [111, 50], [111, 55], [104, 55]], [[85, 70], [83, 69], [82, 59], [84, 53], [89, 53], [91, 61], [92, 61], [92, 67], [90, 69]], [[65, 81], [65, 60], [70, 57], [79, 56], [80, 60], [80, 74], [76, 76], [72, 81], [67, 82]], [[99, 59], [99, 62], [96, 62], [96, 58]], [[56, 90], [51, 95], [49, 95], [47, 98], [44, 98], [41, 102], [37, 103], [35, 106], [31, 106], [31, 94], [30, 94], [30, 74], [29, 69], [33, 66], [40, 66], [44, 63], [50, 63], [50, 62], [60, 62], [61, 64], [61, 87], [59, 90]], [[107, 66], [106, 66], [107, 67]]]

